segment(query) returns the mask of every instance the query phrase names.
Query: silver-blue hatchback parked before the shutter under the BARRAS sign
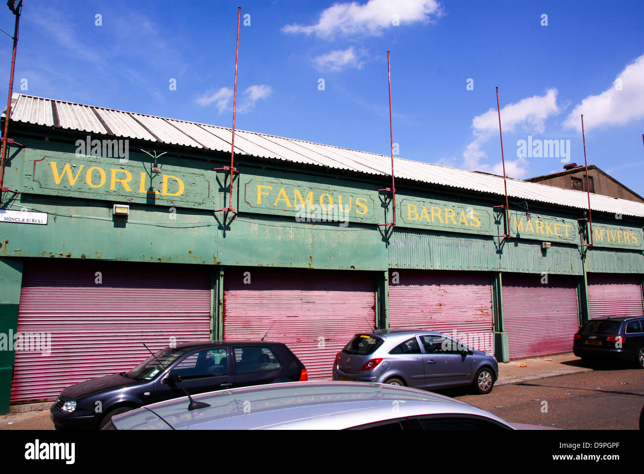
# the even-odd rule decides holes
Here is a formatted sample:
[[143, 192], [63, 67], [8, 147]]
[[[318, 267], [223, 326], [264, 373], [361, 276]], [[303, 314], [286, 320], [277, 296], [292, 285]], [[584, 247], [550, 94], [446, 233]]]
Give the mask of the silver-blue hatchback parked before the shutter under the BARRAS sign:
[[494, 355], [448, 335], [423, 330], [357, 333], [336, 355], [334, 380], [432, 390], [471, 385], [489, 393], [498, 377]]

